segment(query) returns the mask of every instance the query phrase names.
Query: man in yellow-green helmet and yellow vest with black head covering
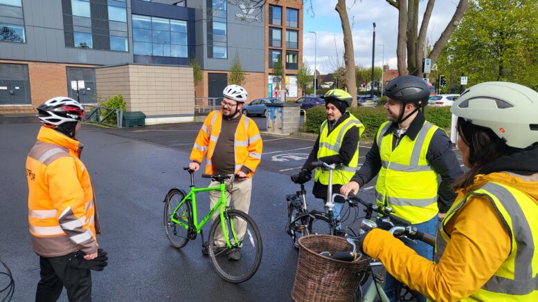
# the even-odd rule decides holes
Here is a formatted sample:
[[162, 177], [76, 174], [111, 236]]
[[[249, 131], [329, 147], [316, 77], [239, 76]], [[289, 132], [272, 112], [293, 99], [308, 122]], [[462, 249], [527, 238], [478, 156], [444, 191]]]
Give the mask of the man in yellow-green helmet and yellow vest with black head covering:
[[[310, 164], [321, 160], [327, 164], [343, 164], [334, 171], [332, 178], [332, 191], [338, 192], [340, 187], [348, 182], [357, 170], [359, 164], [359, 138], [364, 131], [364, 125], [346, 110], [351, 106], [352, 96], [341, 89], [328, 91], [325, 96], [325, 113], [327, 120], [321, 124], [314, 149], [310, 152], [303, 169], [299, 172], [298, 180], [307, 182], [312, 178]], [[314, 189], [312, 193], [316, 198], [327, 202], [329, 172], [316, 169], [314, 176]], [[343, 200], [334, 200], [334, 219], [340, 218]], [[341, 229], [337, 225], [337, 230]]]

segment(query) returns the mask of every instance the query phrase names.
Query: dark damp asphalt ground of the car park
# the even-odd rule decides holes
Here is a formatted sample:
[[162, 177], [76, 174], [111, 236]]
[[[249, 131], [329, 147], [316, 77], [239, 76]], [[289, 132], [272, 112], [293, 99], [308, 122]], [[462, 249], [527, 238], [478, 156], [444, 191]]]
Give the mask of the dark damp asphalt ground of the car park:
[[[254, 118], [261, 130], [264, 119]], [[84, 125], [82, 160], [95, 187], [109, 266], [93, 273], [94, 301], [291, 301], [297, 251], [284, 232], [286, 194], [298, 189], [289, 174], [298, 171], [313, 140], [262, 135], [262, 164], [253, 178], [250, 215], [264, 244], [260, 269], [252, 279], [231, 284], [213, 271], [201, 254], [201, 239], [174, 249], [163, 230], [163, 198], [171, 187], [188, 187], [188, 155], [200, 123], [104, 129]], [[39, 124], [33, 119], [0, 120], [0, 259], [12, 270], [12, 301], [33, 301], [39, 258], [28, 235], [24, 163]], [[361, 163], [368, 147], [361, 147]], [[207, 180], [196, 178], [199, 185]], [[365, 186], [371, 191], [371, 184]], [[312, 182], [307, 184], [312, 208]], [[364, 194], [373, 201], [371, 194]], [[208, 211], [208, 202], [198, 203]], [[206, 231], [208, 225], [206, 225]], [[1, 271], [1, 269], [0, 269]], [[0, 276], [0, 288], [7, 283]], [[0, 294], [0, 299], [3, 296]], [[66, 301], [65, 294], [60, 301]]]

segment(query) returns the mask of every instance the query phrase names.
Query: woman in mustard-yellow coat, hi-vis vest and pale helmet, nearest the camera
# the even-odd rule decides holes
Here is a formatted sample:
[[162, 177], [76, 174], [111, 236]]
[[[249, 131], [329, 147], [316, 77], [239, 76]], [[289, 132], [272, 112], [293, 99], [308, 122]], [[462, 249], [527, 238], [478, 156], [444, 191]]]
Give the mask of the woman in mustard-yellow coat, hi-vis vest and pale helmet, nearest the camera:
[[469, 171], [454, 182], [433, 262], [380, 229], [362, 249], [433, 301], [538, 301], [538, 93], [485, 82], [451, 111]]

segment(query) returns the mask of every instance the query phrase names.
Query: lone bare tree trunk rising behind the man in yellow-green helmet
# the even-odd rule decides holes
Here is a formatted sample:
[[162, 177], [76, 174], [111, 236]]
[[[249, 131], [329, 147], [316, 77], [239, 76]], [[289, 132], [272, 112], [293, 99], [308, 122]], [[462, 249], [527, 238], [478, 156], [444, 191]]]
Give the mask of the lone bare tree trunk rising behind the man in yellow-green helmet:
[[357, 84], [355, 83], [355, 55], [353, 54], [353, 36], [346, 8], [346, 0], [338, 0], [334, 8], [340, 15], [343, 31], [343, 61], [346, 64], [344, 81], [348, 87], [348, 93], [353, 97], [352, 106], [357, 106]]

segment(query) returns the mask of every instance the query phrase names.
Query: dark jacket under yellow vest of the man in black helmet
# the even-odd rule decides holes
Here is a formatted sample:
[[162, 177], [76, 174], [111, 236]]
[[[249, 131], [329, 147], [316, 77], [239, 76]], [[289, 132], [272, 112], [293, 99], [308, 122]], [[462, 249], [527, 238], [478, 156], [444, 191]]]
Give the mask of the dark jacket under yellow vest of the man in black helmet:
[[[419, 112], [404, 135], [409, 136], [411, 140], [415, 140], [418, 132], [422, 129], [424, 120], [424, 114]], [[395, 135], [395, 138], [397, 138], [397, 130], [398, 124], [392, 123], [382, 135]], [[397, 139], [393, 140], [393, 150], [397, 146], [398, 141], [399, 140]], [[433, 138], [431, 138], [426, 154], [426, 160], [428, 160], [433, 171], [436, 171], [436, 173], [441, 176], [441, 182], [437, 192], [437, 204], [440, 213], [446, 213], [456, 198], [456, 193], [454, 192], [454, 189], [451, 188], [452, 182], [460, 177], [463, 174], [463, 171], [456, 158], [456, 154], [452, 150], [452, 143], [444, 130], [438, 129], [436, 133], [433, 133]], [[366, 154], [366, 161], [351, 180], [358, 182], [362, 187], [372, 180], [372, 178], [379, 173], [380, 169], [381, 155], [379, 155], [377, 140], [374, 140], [372, 149]]]

